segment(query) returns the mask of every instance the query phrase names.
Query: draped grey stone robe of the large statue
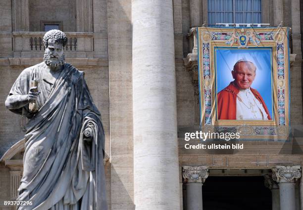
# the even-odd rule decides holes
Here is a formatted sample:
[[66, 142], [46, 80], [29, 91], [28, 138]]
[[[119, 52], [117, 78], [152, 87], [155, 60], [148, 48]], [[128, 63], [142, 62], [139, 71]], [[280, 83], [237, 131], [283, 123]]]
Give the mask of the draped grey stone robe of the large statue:
[[[64, 64], [51, 84], [45, 67], [25, 69], [10, 91], [28, 94], [31, 81], [40, 81], [39, 111], [30, 113], [28, 105], [11, 110], [30, 119], [18, 200], [32, 205], [18, 210], [107, 210], [100, 112], [82, 72]], [[87, 127], [93, 130], [92, 141], [84, 139]]]

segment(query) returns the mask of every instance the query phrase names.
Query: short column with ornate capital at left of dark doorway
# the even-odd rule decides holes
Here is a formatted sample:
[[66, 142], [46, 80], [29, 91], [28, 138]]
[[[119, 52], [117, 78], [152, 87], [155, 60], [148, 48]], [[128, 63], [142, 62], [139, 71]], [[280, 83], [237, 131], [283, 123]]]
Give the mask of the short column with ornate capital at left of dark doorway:
[[183, 167], [183, 178], [186, 183], [187, 210], [202, 210], [202, 185], [208, 177], [207, 167]]

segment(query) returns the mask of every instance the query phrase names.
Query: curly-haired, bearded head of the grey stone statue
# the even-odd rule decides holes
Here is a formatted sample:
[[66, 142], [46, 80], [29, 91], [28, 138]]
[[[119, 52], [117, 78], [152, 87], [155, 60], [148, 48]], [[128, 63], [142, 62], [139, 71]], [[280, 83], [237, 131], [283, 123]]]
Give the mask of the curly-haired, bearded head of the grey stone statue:
[[66, 35], [59, 30], [50, 30], [43, 37], [45, 46], [44, 62], [50, 67], [64, 64], [63, 47], [67, 42]]

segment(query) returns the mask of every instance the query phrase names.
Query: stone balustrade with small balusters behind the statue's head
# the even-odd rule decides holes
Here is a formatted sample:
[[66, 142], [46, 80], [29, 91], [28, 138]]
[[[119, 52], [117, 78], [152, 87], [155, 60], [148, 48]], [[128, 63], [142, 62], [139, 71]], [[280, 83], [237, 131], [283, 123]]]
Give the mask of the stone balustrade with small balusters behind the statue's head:
[[[45, 32], [13, 32], [14, 57], [43, 57]], [[64, 46], [66, 57], [93, 57], [94, 34], [86, 32], [66, 32], [67, 43]]]

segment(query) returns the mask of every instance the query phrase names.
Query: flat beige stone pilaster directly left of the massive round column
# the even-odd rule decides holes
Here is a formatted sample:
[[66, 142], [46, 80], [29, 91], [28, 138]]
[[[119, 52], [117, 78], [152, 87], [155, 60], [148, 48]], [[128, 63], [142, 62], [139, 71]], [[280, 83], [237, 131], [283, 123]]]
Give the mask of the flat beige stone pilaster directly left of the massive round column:
[[107, 0], [111, 209], [135, 210], [132, 0]]

